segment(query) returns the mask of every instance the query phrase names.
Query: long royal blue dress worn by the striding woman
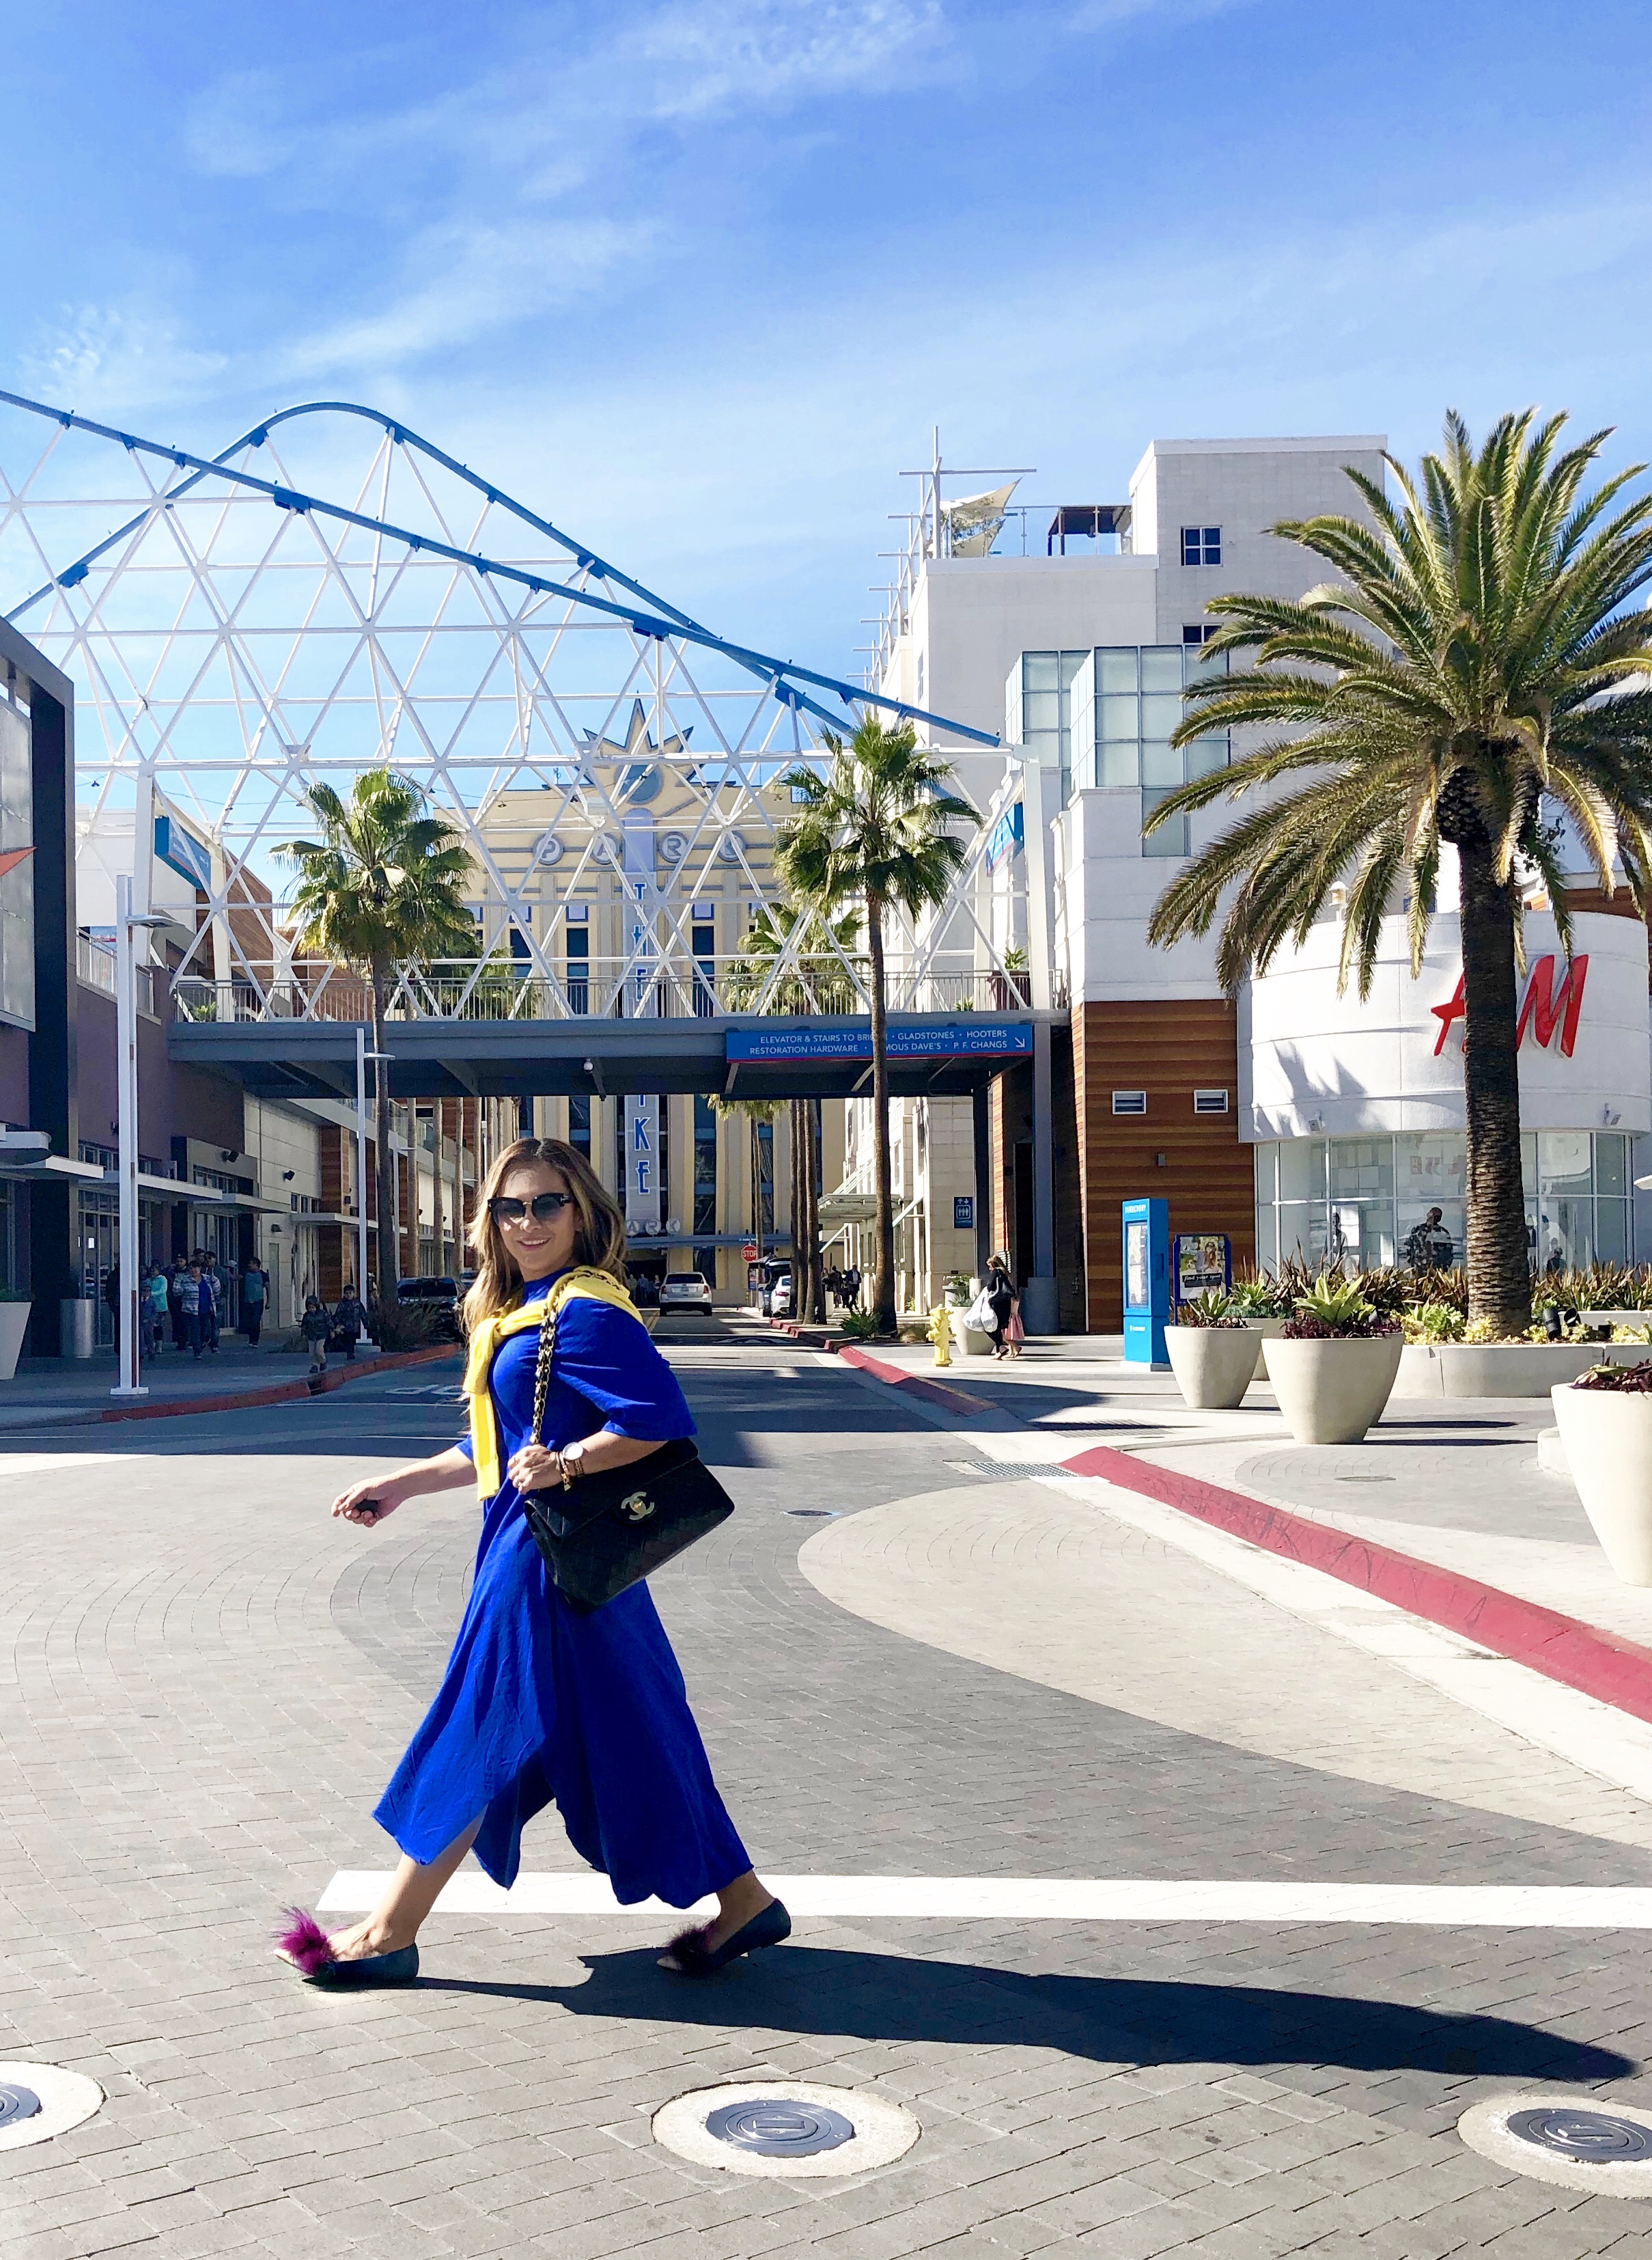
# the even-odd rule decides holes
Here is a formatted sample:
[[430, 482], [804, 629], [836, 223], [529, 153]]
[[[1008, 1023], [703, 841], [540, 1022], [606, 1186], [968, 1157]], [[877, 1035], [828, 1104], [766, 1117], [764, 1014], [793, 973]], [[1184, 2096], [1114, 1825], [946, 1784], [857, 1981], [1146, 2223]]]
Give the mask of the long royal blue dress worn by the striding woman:
[[[551, 1284], [536, 1279], [524, 1302]], [[502, 1469], [529, 1440], [536, 1358], [531, 1327], [493, 1358]], [[603, 1426], [669, 1442], [694, 1435], [694, 1415], [646, 1329], [576, 1295], [556, 1318], [540, 1442], [556, 1449]], [[655, 1896], [692, 1907], [753, 1864], [716, 1794], [649, 1587], [576, 1616], [506, 1476], [481, 1510], [477, 1573], [441, 1690], [373, 1817], [427, 1864], [481, 1813], [477, 1860], [508, 1887], [522, 1828], [551, 1801], [574, 1851], [626, 1905]]]

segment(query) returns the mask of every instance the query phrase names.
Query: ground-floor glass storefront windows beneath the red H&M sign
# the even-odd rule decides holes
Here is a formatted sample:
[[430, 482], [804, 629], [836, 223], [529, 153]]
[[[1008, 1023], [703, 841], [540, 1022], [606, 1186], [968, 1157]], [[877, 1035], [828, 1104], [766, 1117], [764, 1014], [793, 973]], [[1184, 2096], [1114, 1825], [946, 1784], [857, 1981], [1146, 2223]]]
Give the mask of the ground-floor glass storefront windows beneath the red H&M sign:
[[[1257, 1146], [1257, 1263], [1374, 1270], [1462, 1263], [1469, 1155], [1462, 1130], [1281, 1139]], [[1620, 1130], [1528, 1130], [1525, 1252], [1534, 1272], [1627, 1263], [1629, 1141]], [[1435, 1214], [1437, 1211], [1437, 1214]]]

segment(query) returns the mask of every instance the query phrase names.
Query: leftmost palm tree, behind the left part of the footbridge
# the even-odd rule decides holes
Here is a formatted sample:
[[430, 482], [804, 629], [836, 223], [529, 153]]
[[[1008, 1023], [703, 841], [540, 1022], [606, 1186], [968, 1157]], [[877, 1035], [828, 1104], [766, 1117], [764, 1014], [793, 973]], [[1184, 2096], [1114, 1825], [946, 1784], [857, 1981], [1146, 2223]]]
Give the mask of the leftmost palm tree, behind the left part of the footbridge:
[[[296, 942], [366, 974], [373, 1051], [382, 1053], [395, 970], [416, 958], [468, 958], [477, 951], [477, 922], [459, 897], [470, 852], [447, 818], [427, 811], [418, 784], [393, 768], [371, 768], [357, 777], [348, 800], [330, 784], [312, 784], [305, 800], [321, 825], [321, 838], [276, 847], [276, 854], [298, 866], [292, 897]], [[395, 1155], [391, 1087], [382, 1060], [373, 1062], [373, 1137], [377, 1302], [380, 1313], [386, 1313], [395, 1311]]]

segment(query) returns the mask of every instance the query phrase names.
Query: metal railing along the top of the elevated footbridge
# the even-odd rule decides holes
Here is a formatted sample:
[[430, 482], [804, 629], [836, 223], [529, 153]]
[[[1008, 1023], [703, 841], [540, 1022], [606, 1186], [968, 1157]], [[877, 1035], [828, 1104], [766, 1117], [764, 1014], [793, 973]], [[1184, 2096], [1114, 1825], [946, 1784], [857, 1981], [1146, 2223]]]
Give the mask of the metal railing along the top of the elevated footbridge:
[[[581, 958], [576, 972], [540, 974], [495, 960], [436, 963], [405, 972], [386, 1022], [411, 1019], [714, 1019], [739, 1012], [861, 1015], [870, 1010], [866, 967], [841, 958], [798, 958], [784, 967], [750, 958]], [[371, 1022], [373, 999], [359, 974], [260, 983], [174, 976], [179, 1019]], [[1031, 974], [927, 965], [888, 970], [890, 1012], [1019, 1012]]]

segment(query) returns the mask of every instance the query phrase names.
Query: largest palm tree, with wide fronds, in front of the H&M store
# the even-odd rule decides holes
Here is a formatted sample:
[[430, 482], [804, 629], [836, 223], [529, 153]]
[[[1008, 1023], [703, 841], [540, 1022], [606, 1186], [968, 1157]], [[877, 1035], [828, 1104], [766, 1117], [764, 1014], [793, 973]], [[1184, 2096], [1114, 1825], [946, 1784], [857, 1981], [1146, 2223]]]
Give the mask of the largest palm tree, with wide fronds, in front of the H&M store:
[[1302, 945], [1331, 886], [1347, 886], [1340, 985], [1370, 992], [1383, 918], [1403, 895], [1421, 970], [1442, 847], [1458, 857], [1462, 1083], [1469, 1144], [1469, 1313], [1530, 1324], [1521, 1189], [1514, 976], [1521, 884], [1541, 875], [1571, 954], [1557, 857], [1564, 816], [1614, 886], [1614, 859], [1645, 915], [1652, 881], [1652, 671], [1647, 615], [1625, 606], [1652, 579], [1652, 495], [1618, 499], [1643, 466], [1582, 495], [1607, 432], [1559, 452], [1564, 416], [1503, 416], [1473, 450], [1446, 416], [1421, 493], [1349, 470], [1370, 522], [1288, 520], [1272, 531], [1338, 579], [1297, 603], [1216, 597], [1207, 653], [1254, 669], [1186, 692], [1175, 734], [1261, 723], [1284, 734], [1171, 793], [1148, 829], [1220, 796], [1308, 773], [1211, 841], [1164, 890], [1155, 942], [1207, 933], [1227, 899], [1216, 972], [1229, 994]]

